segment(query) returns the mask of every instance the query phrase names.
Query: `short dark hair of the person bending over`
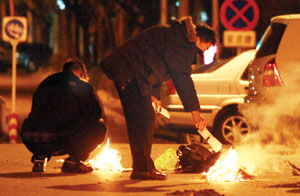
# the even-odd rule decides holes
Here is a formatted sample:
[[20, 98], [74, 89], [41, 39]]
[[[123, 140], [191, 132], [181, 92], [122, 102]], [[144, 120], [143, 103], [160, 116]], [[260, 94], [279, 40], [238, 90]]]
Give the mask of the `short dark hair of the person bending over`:
[[204, 42], [211, 42], [213, 45], [216, 43], [214, 30], [205, 23], [196, 26], [196, 35]]

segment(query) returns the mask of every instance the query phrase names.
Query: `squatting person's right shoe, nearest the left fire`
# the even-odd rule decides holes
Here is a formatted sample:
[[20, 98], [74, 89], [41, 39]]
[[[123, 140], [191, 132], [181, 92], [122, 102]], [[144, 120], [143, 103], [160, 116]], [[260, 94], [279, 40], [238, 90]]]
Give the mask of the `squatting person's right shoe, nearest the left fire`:
[[93, 168], [81, 162], [75, 162], [71, 161], [70, 159], [66, 159], [61, 167], [61, 171], [65, 173], [89, 173], [93, 171]]

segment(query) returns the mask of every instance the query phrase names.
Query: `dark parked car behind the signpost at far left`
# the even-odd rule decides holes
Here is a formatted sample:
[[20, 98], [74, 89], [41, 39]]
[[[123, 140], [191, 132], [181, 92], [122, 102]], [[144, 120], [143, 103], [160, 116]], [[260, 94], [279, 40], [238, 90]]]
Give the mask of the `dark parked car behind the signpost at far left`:
[[[51, 48], [42, 43], [19, 43], [17, 46], [17, 66], [28, 72], [35, 72], [39, 67], [49, 64]], [[0, 72], [6, 72], [12, 64], [12, 46], [0, 41]]]

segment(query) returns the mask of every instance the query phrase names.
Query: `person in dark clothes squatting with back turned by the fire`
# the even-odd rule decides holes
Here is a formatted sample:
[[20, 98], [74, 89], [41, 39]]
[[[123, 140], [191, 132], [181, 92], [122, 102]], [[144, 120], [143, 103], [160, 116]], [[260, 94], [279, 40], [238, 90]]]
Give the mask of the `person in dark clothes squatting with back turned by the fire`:
[[21, 128], [21, 139], [33, 153], [33, 172], [44, 172], [53, 155], [68, 154], [61, 171], [86, 173], [83, 164], [103, 142], [106, 126], [85, 64], [70, 59], [63, 71], [48, 76], [33, 95], [32, 108]]

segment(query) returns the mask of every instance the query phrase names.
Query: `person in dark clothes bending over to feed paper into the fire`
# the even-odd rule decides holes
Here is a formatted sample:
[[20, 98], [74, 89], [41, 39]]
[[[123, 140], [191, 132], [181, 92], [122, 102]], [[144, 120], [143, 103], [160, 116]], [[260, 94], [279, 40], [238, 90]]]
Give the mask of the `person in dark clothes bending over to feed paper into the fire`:
[[206, 126], [190, 75], [197, 51], [205, 51], [213, 44], [214, 31], [206, 25], [196, 27], [191, 17], [186, 17], [170, 26], [146, 29], [101, 62], [103, 71], [115, 83], [125, 113], [133, 160], [131, 179], [166, 179], [166, 174], [157, 171], [151, 159], [157, 112], [152, 102], [158, 110], [162, 82], [172, 79], [195, 126], [200, 130]]

